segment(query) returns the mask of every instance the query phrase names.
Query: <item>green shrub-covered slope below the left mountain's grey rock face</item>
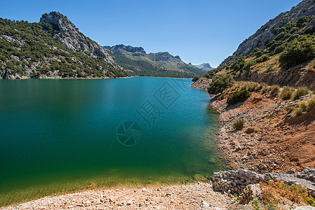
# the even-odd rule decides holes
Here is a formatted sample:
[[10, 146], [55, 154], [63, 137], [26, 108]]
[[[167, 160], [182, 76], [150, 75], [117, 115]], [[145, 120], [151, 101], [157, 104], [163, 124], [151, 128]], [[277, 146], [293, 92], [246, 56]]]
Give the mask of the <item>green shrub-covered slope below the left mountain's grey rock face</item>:
[[55, 41], [53, 25], [43, 22], [12, 21], [0, 18], [0, 70], [36, 78], [41, 75], [62, 77], [127, 76], [125, 71], [88, 57]]

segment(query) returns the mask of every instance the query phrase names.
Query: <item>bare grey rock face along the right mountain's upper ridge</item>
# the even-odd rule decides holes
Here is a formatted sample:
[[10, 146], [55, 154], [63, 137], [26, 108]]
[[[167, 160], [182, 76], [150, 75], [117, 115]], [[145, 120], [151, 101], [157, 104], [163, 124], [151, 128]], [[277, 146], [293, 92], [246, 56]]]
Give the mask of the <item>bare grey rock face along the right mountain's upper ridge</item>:
[[[290, 11], [281, 13], [276, 18], [269, 20], [265, 25], [260, 27], [258, 31], [252, 36], [243, 41], [232, 56], [225, 59], [221, 65], [227, 64], [229, 61], [238, 59], [239, 57], [249, 55], [255, 48], [265, 49], [267, 43], [272, 41], [276, 34], [274, 34], [273, 29], [280, 28], [286, 25], [288, 22], [294, 20], [297, 21], [302, 16], [314, 16], [315, 14], [315, 1], [314, 0], [304, 0], [297, 6], [293, 6]], [[315, 18], [306, 25], [305, 27], [313, 26], [315, 27]]]

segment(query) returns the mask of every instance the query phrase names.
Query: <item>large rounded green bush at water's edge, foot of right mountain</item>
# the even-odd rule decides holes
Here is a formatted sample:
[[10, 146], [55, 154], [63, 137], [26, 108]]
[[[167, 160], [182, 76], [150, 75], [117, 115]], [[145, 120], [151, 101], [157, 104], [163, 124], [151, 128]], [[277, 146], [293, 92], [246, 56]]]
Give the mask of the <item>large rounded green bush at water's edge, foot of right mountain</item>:
[[209, 94], [222, 93], [223, 90], [231, 87], [235, 81], [229, 74], [226, 76], [215, 76], [208, 87]]

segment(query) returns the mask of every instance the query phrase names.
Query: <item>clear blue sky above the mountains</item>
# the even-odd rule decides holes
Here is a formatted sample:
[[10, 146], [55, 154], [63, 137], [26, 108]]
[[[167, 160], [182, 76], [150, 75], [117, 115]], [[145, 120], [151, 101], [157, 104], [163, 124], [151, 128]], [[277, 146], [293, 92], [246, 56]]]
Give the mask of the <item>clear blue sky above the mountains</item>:
[[100, 45], [141, 46], [218, 66], [238, 45], [301, 0], [1, 0], [0, 17], [38, 22], [58, 11]]

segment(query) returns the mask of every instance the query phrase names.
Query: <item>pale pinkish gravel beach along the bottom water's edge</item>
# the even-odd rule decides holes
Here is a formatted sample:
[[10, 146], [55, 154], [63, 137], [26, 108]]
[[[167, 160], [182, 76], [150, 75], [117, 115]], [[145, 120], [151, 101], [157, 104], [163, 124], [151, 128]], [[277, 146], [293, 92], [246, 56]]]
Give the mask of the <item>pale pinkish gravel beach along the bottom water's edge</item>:
[[212, 190], [211, 183], [151, 188], [89, 190], [43, 197], [0, 209], [228, 209], [236, 202], [227, 193]]

